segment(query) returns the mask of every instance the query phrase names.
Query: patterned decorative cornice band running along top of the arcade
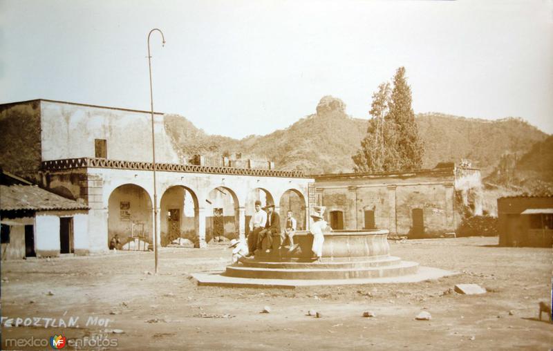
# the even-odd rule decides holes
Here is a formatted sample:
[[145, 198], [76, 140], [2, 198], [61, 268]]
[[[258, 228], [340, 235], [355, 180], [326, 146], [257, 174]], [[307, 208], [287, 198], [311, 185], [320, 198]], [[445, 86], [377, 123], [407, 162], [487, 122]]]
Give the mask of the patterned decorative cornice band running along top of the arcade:
[[[44, 171], [61, 171], [77, 168], [110, 168], [134, 169], [138, 171], [153, 171], [151, 162], [134, 162], [108, 160], [106, 158], [68, 158], [65, 160], [51, 160], [42, 162]], [[156, 171], [180, 173], [212, 173], [230, 174], [236, 176], [281, 177], [281, 178], [308, 178], [303, 171], [275, 171], [274, 169], [242, 169], [233, 167], [197, 166], [195, 164], [156, 163]]]

